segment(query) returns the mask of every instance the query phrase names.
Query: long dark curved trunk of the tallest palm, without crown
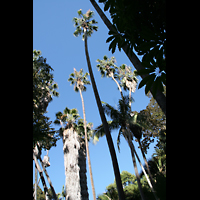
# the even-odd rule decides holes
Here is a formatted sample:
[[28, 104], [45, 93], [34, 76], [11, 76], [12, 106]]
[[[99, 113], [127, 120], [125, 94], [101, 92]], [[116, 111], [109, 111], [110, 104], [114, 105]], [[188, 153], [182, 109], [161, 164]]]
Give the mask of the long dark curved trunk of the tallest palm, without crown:
[[125, 196], [124, 196], [124, 191], [122, 188], [122, 181], [121, 181], [121, 177], [120, 177], [120, 173], [119, 173], [119, 166], [118, 166], [118, 162], [117, 162], [117, 157], [116, 157], [116, 152], [115, 152], [115, 148], [113, 145], [113, 141], [110, 135], [110, 130], [108, 128], [108, 123], [103, 111], [103, 107], [101, 104], [101, 100], [99, 97], [99, 93], [96, 87], [96, 83], [94, 80], [94, 75], [92, 72], [92, 67], [91, 67], [91, 63], [90, 63], [90, 58], [89, 58], [89, 53], [88, 53], [88, 46], [87, 46], [87, 31], [86, 29], [84, 30], [85, 33], [85, 54], [86, 54], [86, 60], [87, 60], [87, 64], [88, 64], [88, 70], [90, 73], [90, 77], [91, 77], [91, 82], [92, 82], [92, 88], [94, 91], [94, 95], [96, 98], [96, 102], [97, 102], [97, 106], [99, 109], [99, 113], [100, 113], [100, 117], [101, 117], [101, 121], [103, 123], [103, 127], [104, 127], [104, 131], [106, 133], [106, 140], [108, 143], [108, 147], [110, 150], [110, 155], [111, 155], [111, 159], [112, 159], [112, 164], [113, 164], [113, 168], [114, 168], [114, 173], [115, 173], [115, 178], [116, 178], [116, 183], [117, 183], [117, 190], [118, 190], [118, 194], [119, 194], [119, 200], [124, 200]]

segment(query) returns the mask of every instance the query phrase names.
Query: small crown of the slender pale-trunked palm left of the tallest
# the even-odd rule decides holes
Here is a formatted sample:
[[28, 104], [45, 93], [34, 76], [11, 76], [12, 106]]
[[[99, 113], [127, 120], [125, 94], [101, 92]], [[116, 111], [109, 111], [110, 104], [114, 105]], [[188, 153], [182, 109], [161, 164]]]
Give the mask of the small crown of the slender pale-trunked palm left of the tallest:
[[86, 91], [85, 85], [90, 85], [90, 81], [88, 80], [89, 73], [86, 72], [85, 74], [83, 73], [83, 69], [80, 69], [78, 72], [74, 68], [74, 73], [71, 73], [70, 78], [68, 79], [70, 85], [74, 85], [74, 90], [75, 92], [78, 92], [79, 90], [81, 91]]

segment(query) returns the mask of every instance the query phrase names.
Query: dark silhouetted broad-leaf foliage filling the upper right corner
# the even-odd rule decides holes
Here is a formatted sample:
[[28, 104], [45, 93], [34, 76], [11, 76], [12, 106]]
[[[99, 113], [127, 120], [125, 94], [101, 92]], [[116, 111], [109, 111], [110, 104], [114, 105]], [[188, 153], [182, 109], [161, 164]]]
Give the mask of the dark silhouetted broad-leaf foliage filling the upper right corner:
[[[109, 31], [109, 50], [119, 51], [126, 44], [128, 52], [133, 48], [138, 55], [143, 55], [138, 75], [147, 75], [139, 85], [145, 87], [145, 93], [152, 88], [155, 97], [157, 90], [163, 92], [166, 85], [166, 1], [165, 0], [100, 0], [104, 11], [109, 10], [113, 30]], [[127, 53], [128, 53], [127, 52]], [[159, 77], [155, 77], [156, 70]], [[153, 74], [152, 74], [153, 73]]]

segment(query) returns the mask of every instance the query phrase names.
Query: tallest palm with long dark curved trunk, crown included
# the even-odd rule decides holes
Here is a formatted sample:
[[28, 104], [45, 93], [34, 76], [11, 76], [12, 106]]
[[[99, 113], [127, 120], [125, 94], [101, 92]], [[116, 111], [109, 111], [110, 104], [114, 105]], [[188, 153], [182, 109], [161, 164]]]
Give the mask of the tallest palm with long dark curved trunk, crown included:
[[87, 64], [88, 64], [88, 70], [89, 70], [90, 77], [91, 77], [92, 87], [93, 87], [94, 95], [96, 98], [97, 106], [99, 109], [100, 117], [101, 117], [101, 120], [103, 123], [103, 127], [105, 130], [108, 147], [109, 147], [110, 154], [111, 154], [112, 164], [113, 164], [116, 183], [117, 183], [117, 189], [118, 189], [118, 193], [119, 193], [119, 199], [123, 200], [123, 199], [125, 199], [125, 197], [124, 197], [124, 191], [122, 188], [122, 182], [121, 182], [121, 177], [120, 177], [120, 173], [119, 173], [119, 166], [118, 166], [118, 162], [117, 162], [116, 152], [115, 152], [113, 141], [112, 141], [112, 138], [110, 135], [108, 123], [107, 123], [107, 120], [106, 120], [106, 117], [105, 117], [105, 114], [103, 111], [99, 93], [98, 93], [98, 90], [96, 87], [94, 75], [92, 72], [92, 66], [91, 66], [91, 62], [90, 62], [90, 58], [89, 58], [89, 53], [88, 53], [87, 36], [91, 36], [91, 34], [93, 33], [93, 30], [97, 31], [98, 27], [93, 26], [93, 24], [96, 24], [97, 22], [94, 19], [90, 21], [90, 19], [94, 15], [94, 12], [92, 12], [90, 10], [88, 10], [86, 14], [83, 14], [82, 10], [78, 10], [78, 15], [79, 15], [79, 17], [81, 17], [80, 19], [77, 17], [73, 18], [73, 21], [75, 22], [75, 26], [76, 26], [76, 31], [74, 32], [74, 35], [78, 36], [78, 35], [81, 35], [81, 33], [83, 33], [83, 39], [85, 42], [85, 54], [86, 54], [86, 60], [87, 60]]

